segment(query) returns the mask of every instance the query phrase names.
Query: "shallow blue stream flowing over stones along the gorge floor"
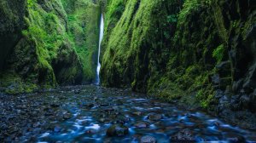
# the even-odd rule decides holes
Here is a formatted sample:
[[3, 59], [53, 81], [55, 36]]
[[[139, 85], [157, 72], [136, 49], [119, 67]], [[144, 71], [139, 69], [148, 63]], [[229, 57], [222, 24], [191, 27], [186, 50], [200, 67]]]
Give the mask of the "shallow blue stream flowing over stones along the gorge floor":
[[0, 94], [1, 142], [256, 142], [203, 112], [95, 85]]

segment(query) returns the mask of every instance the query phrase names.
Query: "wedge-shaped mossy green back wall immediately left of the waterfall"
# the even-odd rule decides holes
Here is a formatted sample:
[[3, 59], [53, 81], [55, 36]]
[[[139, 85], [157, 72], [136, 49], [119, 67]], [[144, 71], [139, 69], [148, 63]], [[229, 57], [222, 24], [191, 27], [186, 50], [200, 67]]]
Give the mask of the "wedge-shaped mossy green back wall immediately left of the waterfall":
[[68, 36], [82, 63], [84, 81], [96, 76], [100, 7], [90, 0], [62, 0], [67, 10]]

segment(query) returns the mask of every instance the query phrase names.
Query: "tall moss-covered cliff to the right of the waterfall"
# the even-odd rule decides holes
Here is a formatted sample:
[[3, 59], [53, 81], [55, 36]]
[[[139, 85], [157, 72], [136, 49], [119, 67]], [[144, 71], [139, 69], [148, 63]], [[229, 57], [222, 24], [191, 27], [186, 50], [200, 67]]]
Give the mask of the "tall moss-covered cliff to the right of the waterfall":
[[102, 85], [253, 123], [238, 112], [256, 109], [255, 14], [253, 1], [108, 1]]

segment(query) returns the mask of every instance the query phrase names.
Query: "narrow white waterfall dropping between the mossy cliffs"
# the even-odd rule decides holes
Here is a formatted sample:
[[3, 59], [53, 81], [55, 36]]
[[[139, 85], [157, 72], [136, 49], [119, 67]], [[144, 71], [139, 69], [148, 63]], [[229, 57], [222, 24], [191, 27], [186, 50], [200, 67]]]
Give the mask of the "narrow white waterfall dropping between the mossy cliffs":
[[103, 31], [104, 31], [104, 20], [103, 20], [103, 14], [102, 14], [101, 26], [100, 26], [100, 38], [99, 38], [99, 50], [98, 50], [98, 63], [97, 63], [97, 70], [96, 70], [96, 85], [100, 84], [100, 70], [101, 70], [100, 54], [101, 54], [101, 43], [103, 38]]

